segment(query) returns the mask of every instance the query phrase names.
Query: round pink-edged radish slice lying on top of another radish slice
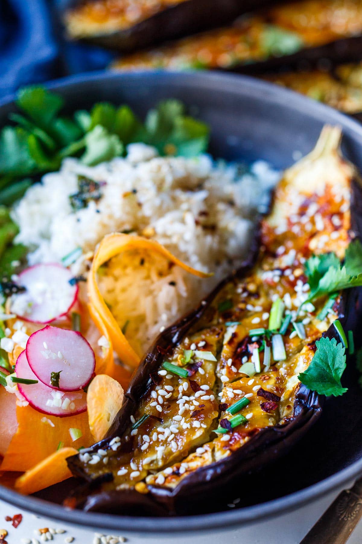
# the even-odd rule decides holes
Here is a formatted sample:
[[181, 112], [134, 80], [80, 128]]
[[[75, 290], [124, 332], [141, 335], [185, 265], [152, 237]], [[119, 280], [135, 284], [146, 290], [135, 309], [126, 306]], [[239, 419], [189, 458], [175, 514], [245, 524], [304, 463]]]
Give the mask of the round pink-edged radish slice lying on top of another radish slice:
[[96, 358], [94, 351], [80, 332], [46, 326], [33, 332], [26, 347], [31, 370], [43, 384], [51, 383], [51, 373], [60, 372], [59, 389], [77, 391], [91, 380]]

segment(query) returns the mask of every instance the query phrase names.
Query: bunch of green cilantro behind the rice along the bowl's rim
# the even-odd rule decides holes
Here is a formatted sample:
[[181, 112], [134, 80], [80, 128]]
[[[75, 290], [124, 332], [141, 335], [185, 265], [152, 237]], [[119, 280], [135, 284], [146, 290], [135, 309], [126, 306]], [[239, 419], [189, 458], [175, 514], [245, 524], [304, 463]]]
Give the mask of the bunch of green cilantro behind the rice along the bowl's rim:
[[187, 116], [178, 100], [160, 102], [144, 123], [128, 106], [108, 102], [95, 104], [90, 112], [62, 115], [63, 98], [39, 86], [19, 91], [16, 105], [21, 113], [9, 116], [16, 124], [0, 133], [0, 204], [4, 187], [57, 170], [65, 157], [95, 165], [122, 156], [125, 146], [136, 141], [154, 145], [162, 155], [195, 156], [208, 145], [208, 126]]

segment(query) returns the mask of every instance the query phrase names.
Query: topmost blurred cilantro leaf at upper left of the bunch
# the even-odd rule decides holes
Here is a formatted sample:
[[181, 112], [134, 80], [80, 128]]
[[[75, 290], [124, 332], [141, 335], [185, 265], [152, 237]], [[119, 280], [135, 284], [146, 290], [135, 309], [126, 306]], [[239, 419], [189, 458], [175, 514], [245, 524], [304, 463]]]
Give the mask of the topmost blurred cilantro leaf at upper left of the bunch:
[[44, 87], [29, 86], [18, 92], [16, 104], [36, 124], [46, 127], [63, 106], [63, 99]]

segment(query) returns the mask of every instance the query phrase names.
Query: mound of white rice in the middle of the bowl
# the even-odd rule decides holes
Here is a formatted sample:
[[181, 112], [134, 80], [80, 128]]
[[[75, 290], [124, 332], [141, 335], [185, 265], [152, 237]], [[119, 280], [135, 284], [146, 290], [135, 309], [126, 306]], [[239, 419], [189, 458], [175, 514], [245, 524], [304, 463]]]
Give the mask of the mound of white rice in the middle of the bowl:
[[[78, 175], [105, 184], [98, 202], [73, 212], [69, 195], [77, 193]], [[278, 172], [262, 161], [238, 175], [235, 166], [215, 164], [206, 155], [161, 158], [144, 144], [130, 145], [126, 158], [94, 167], [66, 159], [14, 209], [20, 226], [16, 242], [31, 248], [29, 264], [59, 262], [80, 247], [83, 255], [72, 265], [76, 275], [86, 273], [87, 253], [105, 234], [132, 231], [157, 240], [192, 267], [214, 273], [200, 280], [153, 255], [140, 266], [137, 252], [132, 256], [139, 261], [112, 259], [99, 285], [119, 325], [129, 320], [126, 336], [141, 354], [163, 327], [198, 304], [247, 255], [258, 207], [265, 206], [277, 179]]]

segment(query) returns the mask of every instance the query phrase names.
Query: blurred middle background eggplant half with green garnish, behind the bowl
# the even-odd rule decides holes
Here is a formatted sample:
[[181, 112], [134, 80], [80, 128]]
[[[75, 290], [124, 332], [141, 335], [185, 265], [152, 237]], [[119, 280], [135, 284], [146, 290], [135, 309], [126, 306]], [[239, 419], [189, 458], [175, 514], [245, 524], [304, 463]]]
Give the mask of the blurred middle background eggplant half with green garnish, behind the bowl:
[[[219, 23], [221, 24], [221, 22]], [[152, 50], [123, 57], [118, 70], [222, 69], [265, 73], [320, 59], [360, 60], [361, 0], [302, 0]]]

